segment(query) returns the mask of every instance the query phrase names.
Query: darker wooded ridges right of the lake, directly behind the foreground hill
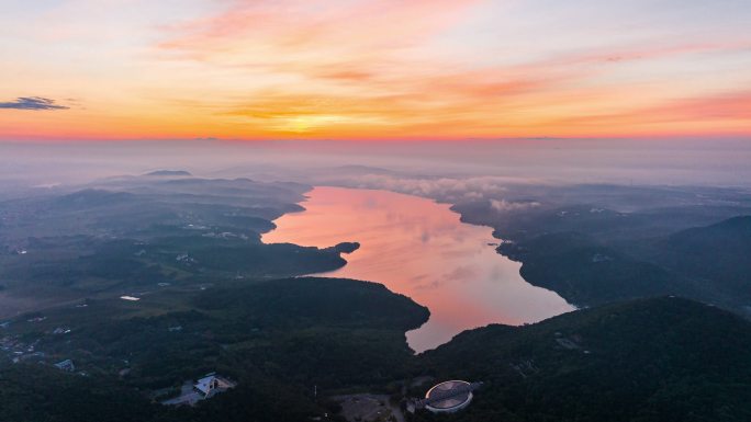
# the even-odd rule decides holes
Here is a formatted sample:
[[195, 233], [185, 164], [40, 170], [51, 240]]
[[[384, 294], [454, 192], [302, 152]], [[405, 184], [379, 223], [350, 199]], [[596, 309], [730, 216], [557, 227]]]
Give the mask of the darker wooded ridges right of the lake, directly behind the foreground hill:
[[751, 304], [751, 217], [608, 246], [581, 232], [554, 232], [504, 243], [522, 275], [579, 305], [676, 294], [746, 315]]

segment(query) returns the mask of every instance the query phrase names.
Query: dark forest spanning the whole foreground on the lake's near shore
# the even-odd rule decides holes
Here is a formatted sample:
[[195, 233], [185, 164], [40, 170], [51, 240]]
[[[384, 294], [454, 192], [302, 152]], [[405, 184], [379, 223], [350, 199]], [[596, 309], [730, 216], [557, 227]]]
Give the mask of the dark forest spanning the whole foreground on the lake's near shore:
[[[122, 421], [300, 421], [329, 412], [327, 390], [389, 391], [393, 381], [421, 375], [485, 385], [464, 411], [421, 411], [408, 415], [413, 422], [751, 418], [751, 324], [686, 299], [608, 305], [519, 328], [489, 326], [417, 357], [406, 350], [403, 330], [424, 321], [426, 309], [380, 285], [294, 278], [194, 300], [195, 311], [120, 322], [115, 312], [56, 340], [71, 353], [88, 347], [76, 357], [88, 377], [36, 364], [0, 366], [0, 420], [107, 421], [114, 419], [97, 418], [116, 409]], [[181, 331], [170, 332], [173, 323]], [[52, 344], [45, 342], [38, 346]], [[100, 353], [113, 363], [130, 356], [131, 374], [117, 379], [116, 366], [108, 372], [107, 358], [93, 357]], [[177, 386], [214, 369], [238, 387], [195, 408], [147, 399], [168, 379]], [[37, 400], [49, 404], [34, 407]], [[33, 413], [23, 413], [30, 408]]]

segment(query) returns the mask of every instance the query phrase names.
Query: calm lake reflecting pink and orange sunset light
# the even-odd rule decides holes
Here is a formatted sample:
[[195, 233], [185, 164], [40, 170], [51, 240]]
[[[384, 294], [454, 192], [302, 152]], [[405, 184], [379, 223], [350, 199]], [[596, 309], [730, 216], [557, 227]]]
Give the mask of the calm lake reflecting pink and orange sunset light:
[[366, 280], [410, 296], [430, 319], [406, 333], [416, 352], [493, 322], [518, 326], [573, 310], [556, 293], [522, 278], [522, 264], [495, 252], [492, 229], [459, 221], [449, 205], [384, 191], [316, 187], [266, 243], [330, 247], [358, 241], [347, 265], [327, 276]]

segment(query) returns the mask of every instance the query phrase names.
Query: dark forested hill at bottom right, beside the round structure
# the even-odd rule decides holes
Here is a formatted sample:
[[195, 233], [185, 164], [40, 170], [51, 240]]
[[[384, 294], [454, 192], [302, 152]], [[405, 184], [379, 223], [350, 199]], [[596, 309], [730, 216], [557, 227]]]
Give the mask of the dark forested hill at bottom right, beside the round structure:
[[423, 364], [486, 384], [441, 421], [751, 420], [751, 324], [681, 298], [468, 331]]

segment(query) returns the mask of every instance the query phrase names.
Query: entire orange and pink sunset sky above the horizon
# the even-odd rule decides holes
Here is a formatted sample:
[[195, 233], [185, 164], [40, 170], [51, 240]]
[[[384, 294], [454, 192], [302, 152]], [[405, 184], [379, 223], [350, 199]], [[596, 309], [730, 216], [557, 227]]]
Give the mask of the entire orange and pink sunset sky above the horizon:
[[751, 136], [748, 0], [0, 0], [0, 140]]

